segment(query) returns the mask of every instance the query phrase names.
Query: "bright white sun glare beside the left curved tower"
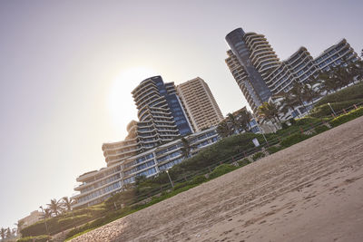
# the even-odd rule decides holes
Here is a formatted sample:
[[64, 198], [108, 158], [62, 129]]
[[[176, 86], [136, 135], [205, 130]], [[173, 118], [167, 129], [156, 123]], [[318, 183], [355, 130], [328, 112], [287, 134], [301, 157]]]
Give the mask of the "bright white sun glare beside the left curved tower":
[[107, 95], [107, 108], [113, 130], [117, 134], [126, 136], [126, 125], [137, 120], [132, 90], [146, 78], [159, 74], [150, 67], [137, 66], [121, 70], [113, 79]]

